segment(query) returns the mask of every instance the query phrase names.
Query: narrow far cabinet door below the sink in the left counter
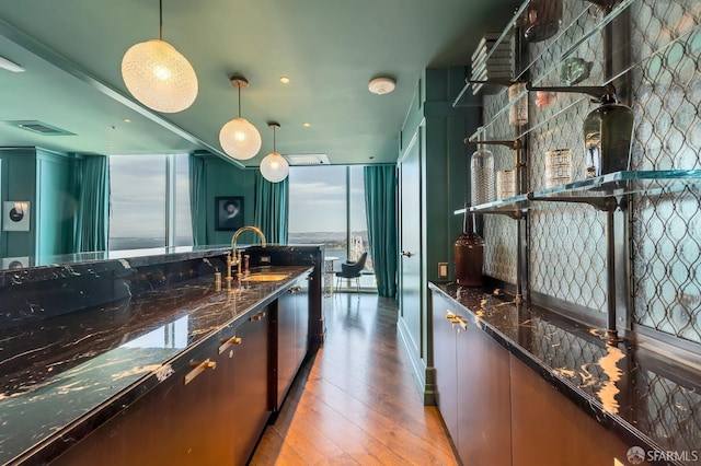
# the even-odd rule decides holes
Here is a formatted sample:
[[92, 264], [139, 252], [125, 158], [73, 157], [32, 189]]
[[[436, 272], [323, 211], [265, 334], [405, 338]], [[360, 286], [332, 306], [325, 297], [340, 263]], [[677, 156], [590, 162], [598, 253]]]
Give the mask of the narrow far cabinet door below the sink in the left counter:
[[279, 409], [287, 395], [297, 364], [297, 311], [296, 295], [288, 291], [277, 300], [277, 312], [275, 315], [274, 328], [277, 329], [277, 340], [274, 341], [275, 349], [275, 371], [276, 372], [276, 397], [275, 407]]

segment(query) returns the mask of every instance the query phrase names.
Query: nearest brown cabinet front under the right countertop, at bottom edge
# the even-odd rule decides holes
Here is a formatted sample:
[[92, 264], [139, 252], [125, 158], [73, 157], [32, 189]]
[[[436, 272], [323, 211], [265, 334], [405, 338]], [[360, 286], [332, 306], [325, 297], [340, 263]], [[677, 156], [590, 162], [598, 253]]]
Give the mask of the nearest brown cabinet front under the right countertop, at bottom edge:
[[[627, 445], [512, 356], [514, 465], [612, 465]], [[647, 464], [647, 463], [644, 463]]]

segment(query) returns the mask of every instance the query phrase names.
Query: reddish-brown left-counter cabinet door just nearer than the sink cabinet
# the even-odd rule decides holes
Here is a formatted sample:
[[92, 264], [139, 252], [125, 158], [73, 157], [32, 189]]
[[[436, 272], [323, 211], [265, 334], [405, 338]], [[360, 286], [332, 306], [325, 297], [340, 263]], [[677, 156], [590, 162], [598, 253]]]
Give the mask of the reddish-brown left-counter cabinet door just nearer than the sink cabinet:
[[269, 308], [249, 317], [237, 328], [241, 345], [235, 351], [235, 384], [230, 394], [234, 416], [231, 434], [233, 464], [245, 464], [271, 415], [268, 398]]

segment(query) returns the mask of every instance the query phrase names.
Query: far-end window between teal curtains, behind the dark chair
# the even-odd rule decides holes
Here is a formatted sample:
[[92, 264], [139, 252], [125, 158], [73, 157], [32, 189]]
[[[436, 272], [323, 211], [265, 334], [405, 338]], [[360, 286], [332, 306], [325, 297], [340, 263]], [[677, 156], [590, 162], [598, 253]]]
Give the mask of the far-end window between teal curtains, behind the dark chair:
[[[360, 287], [374, 290], [375, 275], [365, 215], [363, 166], [292, 166], [289, 173], [290, 244], [324, 244], [335, 270], [368, 253]], [[342, 280], [355, 288], [355, 281]]]

